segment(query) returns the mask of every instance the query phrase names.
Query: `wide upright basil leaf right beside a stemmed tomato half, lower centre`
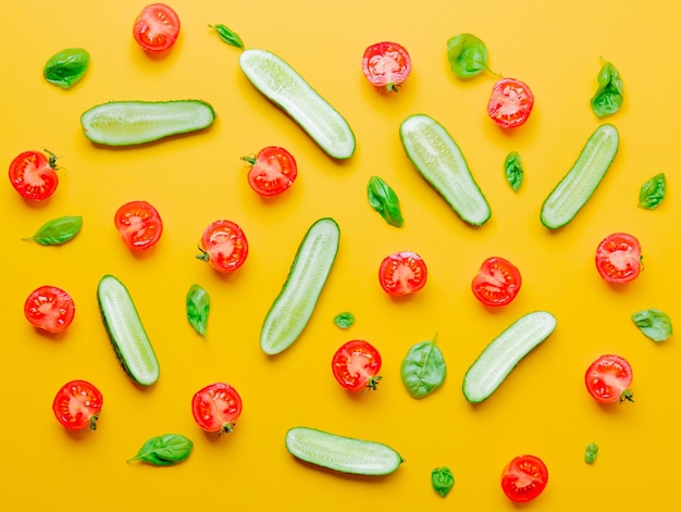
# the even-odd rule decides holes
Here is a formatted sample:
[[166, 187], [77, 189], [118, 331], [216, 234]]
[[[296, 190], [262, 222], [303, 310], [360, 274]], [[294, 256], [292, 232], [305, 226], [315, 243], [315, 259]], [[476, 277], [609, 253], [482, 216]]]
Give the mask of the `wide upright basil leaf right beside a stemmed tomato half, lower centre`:
[[447, 367], [435, 338], [412, 346], [403, 360], [400, 375], [412, 398], [436, 391], [445, 382]]

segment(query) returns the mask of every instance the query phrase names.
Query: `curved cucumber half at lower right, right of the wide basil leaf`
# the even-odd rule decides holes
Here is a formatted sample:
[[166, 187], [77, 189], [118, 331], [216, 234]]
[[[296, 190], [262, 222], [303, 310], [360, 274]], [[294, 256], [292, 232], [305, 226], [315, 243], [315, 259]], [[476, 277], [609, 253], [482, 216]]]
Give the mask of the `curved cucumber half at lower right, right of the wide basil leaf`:
[[528, 313], [487, 345], [463, 377], [463, 396], [469, 402], [488, 398], [522, 358], [556, 328], [556, 317], [546, 311]]

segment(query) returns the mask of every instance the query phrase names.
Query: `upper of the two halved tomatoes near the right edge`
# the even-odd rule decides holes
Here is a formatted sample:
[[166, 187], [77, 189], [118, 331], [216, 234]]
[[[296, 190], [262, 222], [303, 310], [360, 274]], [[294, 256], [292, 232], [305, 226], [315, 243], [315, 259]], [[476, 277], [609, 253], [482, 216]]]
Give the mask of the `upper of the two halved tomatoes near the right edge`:
[[608, 283], [629, 283], [641, 274], [641, 243], [627, 233], [614, 233], [598, 243], [596, 270]]

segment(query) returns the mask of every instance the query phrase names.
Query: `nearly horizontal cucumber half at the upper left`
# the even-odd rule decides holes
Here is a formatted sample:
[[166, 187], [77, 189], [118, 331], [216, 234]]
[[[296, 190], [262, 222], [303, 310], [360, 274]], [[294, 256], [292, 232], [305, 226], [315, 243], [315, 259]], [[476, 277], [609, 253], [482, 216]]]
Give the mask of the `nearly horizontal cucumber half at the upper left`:
[[214, 120], [213, 108], [200, 100], [111, 101], [87, 110], [81, 125], [92, 142], [133, 146], [197, 132]]

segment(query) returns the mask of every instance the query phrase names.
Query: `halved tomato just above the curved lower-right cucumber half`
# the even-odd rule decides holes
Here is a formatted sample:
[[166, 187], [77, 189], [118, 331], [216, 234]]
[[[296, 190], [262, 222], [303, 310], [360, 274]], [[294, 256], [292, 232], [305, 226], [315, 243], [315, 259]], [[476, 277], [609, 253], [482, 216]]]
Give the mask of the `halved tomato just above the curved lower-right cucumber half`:
[[505, 305], [516, 298], [521, 284], [518, 267], [504, 258], [494, 257], [483, 261], [471, 287], [483, 304]]

